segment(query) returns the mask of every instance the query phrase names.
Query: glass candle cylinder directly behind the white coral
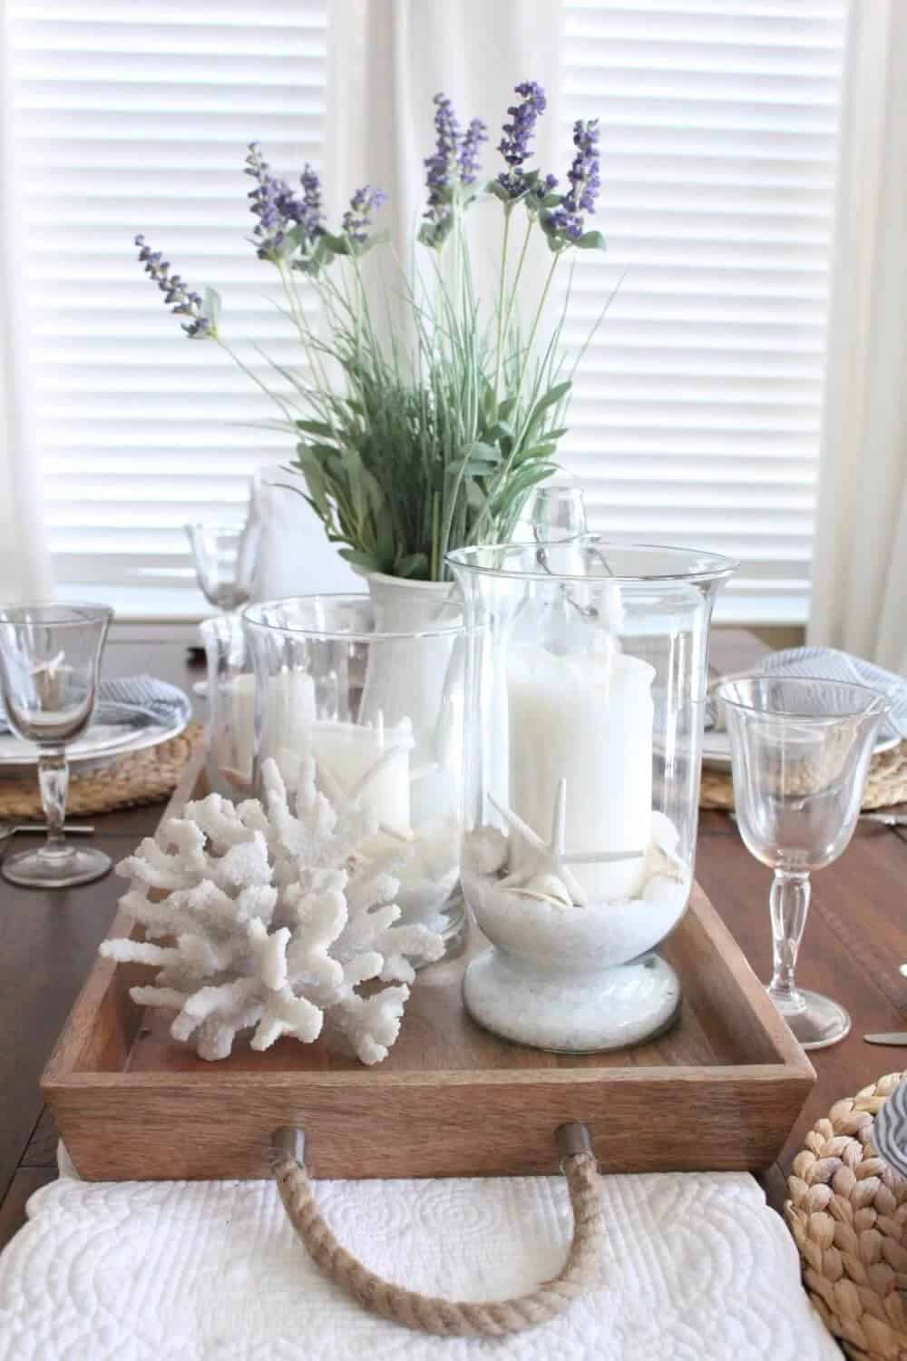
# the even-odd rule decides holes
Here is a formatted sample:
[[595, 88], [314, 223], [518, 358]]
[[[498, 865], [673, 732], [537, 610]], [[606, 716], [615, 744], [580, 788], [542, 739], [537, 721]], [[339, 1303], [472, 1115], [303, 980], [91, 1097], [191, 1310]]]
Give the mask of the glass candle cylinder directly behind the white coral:
[[374, 818], [359, 852], [397, 879], [401, 921], [430, 925], [453, 951], [466, 921], [462, 607], [434, 627], [388, 622], [364, 595], [249, 606], [256, 781], [269, 758], [287, 780], [314, 758], [322, 791]]

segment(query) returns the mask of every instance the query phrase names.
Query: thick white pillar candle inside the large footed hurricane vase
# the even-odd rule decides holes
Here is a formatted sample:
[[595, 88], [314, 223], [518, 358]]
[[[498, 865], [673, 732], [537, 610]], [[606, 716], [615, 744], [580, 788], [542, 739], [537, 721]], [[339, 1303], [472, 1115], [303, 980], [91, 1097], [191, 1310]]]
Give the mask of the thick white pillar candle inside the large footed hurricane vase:
[[[651, 682], [624, 653], [559, 656], [515, 648], [507, 666], [510, 808], [548, 841], [560, 780], [567, 781], [566, 852], [642, 851], [651, 836]], [[510, 870], [533, 851], [510, 836]], [[570, 864], [590, 902], [635, 897], [645, 855]]]

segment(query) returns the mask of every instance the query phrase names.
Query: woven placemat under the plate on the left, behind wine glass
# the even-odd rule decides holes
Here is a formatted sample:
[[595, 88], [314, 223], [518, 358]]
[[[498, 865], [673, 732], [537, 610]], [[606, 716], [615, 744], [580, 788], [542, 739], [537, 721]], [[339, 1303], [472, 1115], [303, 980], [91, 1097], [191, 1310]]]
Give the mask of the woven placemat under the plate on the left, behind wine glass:
[[[190, 723], [185, 732], [170, 742], [117, 757], [101, 770], [71, 776], [67, 817], [110, 813], [113, 808], [132, 808], [170, 798], [203, 732], [200, 723]], [[42, 817], [35, 783], [0, 780], [0, 821]]]

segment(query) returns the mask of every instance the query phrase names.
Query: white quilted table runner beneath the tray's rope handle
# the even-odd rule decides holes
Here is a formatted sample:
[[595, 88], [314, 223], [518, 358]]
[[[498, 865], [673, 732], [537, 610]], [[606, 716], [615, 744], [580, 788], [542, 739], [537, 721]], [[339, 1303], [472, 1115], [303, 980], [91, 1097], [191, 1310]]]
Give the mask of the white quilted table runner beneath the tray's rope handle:
[[[38, 1191], [0, 1258], [1, 1361], [840, 1361], [794, 1244], [752, 1177], [605, 1177], [598, 1288], [502, 1341], [375, 1319], [326, 1282], [265, 1181], [84, 1183]], [[562, 1264], [559, 1177], [322, 1181], [367, 1266], [481, 1300]]]

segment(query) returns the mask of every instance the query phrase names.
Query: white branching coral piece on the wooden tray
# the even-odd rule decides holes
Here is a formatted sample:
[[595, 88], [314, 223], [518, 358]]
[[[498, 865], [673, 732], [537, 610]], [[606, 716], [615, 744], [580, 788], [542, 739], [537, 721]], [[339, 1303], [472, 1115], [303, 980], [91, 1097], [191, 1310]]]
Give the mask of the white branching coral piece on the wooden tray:
[[[291, 791], [273, 761], [262, 776], [264, 804], [188, 803], [117, 866], [131, 881], [120, 905], [146, 939], [101, 953], [158, 970], [133, 999], [175, 1011], [171, 1034], [194, 1037], [203, 1059], [226, 1057], [252, 1026], [253, 1049], [283, 1034], [307, 1044], [329, 1013], [362, 1062], [378, 1063], [400, 1032], [411, 961], [439, 958], [443, 942], [398, 924], [394, 852], [355, 853], [377, 819], [329, 780], [330, 798], [318, 789], [311, 758]], [[375, 979], [392, 985], [356, 991]]]

